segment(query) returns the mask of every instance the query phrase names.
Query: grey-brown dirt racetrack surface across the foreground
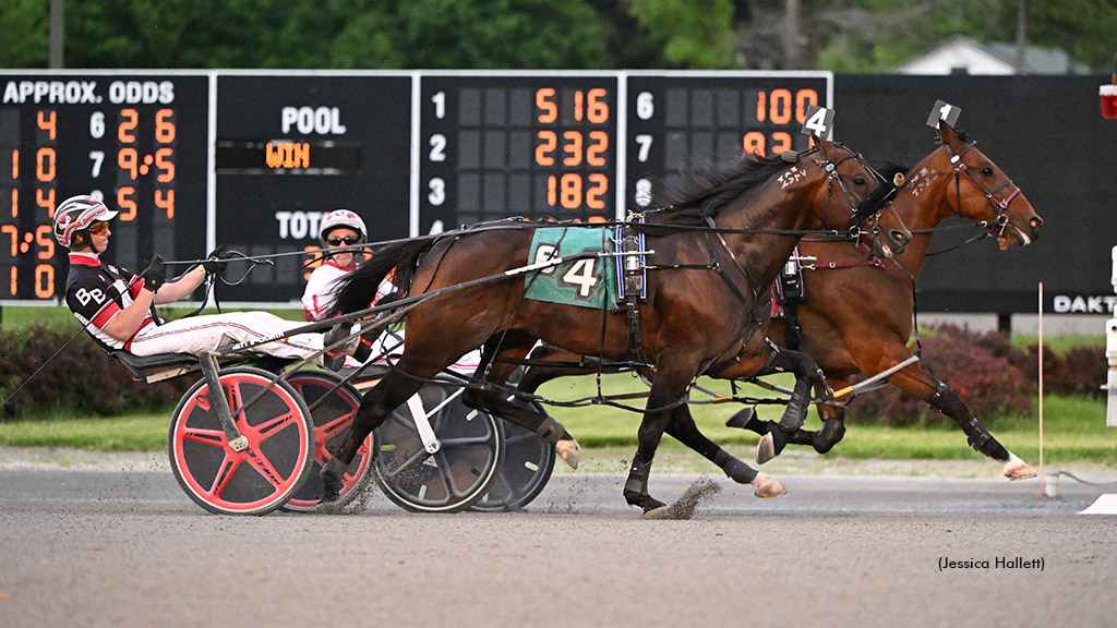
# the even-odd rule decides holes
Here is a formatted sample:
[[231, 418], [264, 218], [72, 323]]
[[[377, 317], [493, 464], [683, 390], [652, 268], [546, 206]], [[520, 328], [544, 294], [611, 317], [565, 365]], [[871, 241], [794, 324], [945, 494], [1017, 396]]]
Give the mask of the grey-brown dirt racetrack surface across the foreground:
[[[653, 474], [652, 493], [698, 478]], [[688, 521], [642, 521], [611, 474], [555, 475], [521, 513], [416, 515], [374, 494], [355, 515], [235, 517], [157, 465], [8, 466], [0, 626], [1113, 625], [1117, 517], [1078, 514], [1102, 488], [781, 479], [789, 494], [760, 501], [718, 478]]]

